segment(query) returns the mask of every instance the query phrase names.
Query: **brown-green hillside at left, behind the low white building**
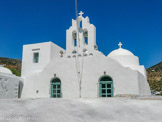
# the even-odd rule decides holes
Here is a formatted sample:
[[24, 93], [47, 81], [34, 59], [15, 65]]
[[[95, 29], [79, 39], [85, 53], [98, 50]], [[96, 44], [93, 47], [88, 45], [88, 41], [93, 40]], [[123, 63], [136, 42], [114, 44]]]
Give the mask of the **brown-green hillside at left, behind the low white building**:
[[13, 74], [21, 76], [21, 60], [0, 57], [0, 65], [9, 68]]

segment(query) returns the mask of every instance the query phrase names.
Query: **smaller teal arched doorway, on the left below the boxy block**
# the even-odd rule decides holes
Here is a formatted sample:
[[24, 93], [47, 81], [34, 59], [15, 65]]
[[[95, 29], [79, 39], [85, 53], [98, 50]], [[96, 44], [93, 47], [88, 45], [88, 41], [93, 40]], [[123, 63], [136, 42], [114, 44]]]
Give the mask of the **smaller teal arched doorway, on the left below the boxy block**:
[[59, 78], [54, 78], [51, 80], [51, 98], [60, 97], [62, 97], [61, 80]]

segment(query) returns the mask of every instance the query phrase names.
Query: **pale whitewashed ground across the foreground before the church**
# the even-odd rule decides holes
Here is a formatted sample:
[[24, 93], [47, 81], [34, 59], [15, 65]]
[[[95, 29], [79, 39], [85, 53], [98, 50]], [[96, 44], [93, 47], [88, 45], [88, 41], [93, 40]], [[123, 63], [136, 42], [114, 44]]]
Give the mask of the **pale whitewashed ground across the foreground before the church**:
[[160, 100], [0, 100], [1, 122], [162, 122], [161, 111]]

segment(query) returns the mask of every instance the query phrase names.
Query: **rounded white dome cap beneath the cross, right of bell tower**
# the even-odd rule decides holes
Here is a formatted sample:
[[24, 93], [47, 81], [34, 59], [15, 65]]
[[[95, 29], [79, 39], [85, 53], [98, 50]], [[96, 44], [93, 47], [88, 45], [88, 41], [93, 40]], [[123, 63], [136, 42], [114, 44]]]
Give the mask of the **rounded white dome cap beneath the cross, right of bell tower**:
[[134, 56], [134, 54], [132, 52], [130, 52], [129, 50], [126, 50], [126, 49], [123, 49], [123, 48], [119, 48], [119, 49], [116, 49], [112, 52], [109, 53], [108, 57], [112, 57], [112, 56]]

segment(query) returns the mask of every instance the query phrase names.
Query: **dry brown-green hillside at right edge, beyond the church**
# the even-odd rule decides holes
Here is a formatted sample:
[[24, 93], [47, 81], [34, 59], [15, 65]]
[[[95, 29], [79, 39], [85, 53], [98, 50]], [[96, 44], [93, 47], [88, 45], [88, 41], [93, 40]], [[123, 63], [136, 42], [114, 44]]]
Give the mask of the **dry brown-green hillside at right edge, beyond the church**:
[[148, 68], [147, 77], [151, 90], [162, 94], [162, 62]]

